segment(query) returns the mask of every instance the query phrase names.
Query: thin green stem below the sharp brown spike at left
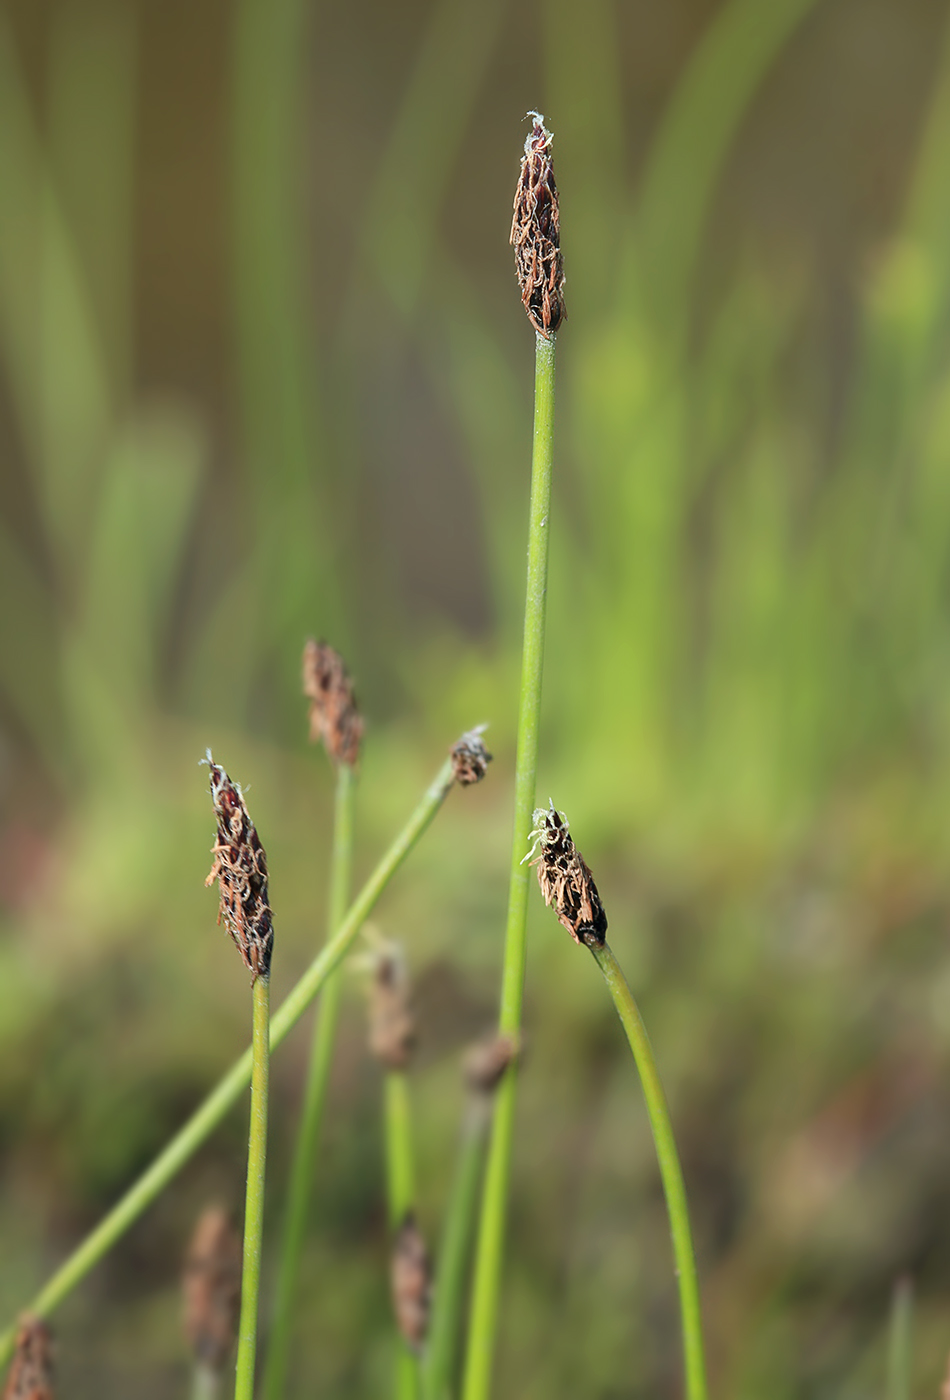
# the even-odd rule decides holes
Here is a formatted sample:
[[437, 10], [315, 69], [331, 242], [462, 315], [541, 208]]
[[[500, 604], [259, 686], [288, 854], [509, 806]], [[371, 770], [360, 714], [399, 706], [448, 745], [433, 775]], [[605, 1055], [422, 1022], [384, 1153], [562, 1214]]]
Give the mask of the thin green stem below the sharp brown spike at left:
[[253, 1039], [250, 1044], [250, 1131], [248, 1134], [248, 1193], [243, 1211], [243, 1268], [241, 1271], [241, 1324], [234, 1400], [253, 1400], [257, 1357], [257, 1301], [260, 1298], [260, 1246], [264, 1238], [264, 1169], [267, 1165], [267, 1074], [270, 1068], [270, 980], [257, 977], [253, 990]]

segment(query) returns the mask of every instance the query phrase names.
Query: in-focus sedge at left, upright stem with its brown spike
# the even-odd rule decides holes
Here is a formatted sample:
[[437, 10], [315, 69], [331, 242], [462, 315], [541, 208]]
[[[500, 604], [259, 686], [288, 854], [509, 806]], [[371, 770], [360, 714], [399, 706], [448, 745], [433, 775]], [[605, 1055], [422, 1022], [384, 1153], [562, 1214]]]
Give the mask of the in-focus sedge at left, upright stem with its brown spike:
[[250, 1043], [250, 1128], [248, 1134], [248, 1190], [241, 1268], [241, 1320], [235, 1400], [253, 1400], [257, 1358], [260, 1254], [264, 1238], [264, 1176], [267, 1165], [267, 1088], [270, 1070], [270, 959], [274, 917], [267, 897], [267, 857], [250, 820], [241, 788], [211, 757], [211, 801], [218, 822], [214, 865], [206, 883], [217, 879], [224, 920], [250, 973], [253, 1033]]

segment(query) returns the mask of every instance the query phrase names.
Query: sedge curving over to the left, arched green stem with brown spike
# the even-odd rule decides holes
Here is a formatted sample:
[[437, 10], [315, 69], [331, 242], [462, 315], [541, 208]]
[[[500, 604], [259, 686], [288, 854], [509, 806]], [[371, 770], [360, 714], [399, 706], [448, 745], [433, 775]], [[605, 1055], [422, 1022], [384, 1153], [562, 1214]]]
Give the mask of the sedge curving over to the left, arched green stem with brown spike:
[[707, 1400], [700, 1284], [690, 1229], [690, 1208], [670, 1110], [656, 1068], [653, 1047], [649, 1043], [639, 1008], [627, 986], [627, 979], [607, 944], [607, 916], [597, 886], [574, 844], [567, 818], [562, 812], [555, 811], [554, 804], [547, 809], [537, 808], [532, 837], [533, 844], [523, 860], [530, 861], [537, 869], [537, 882], [544, 903], [554, 907], [558, 920], [574, 941], [588, 948], [593, 955], [634, 1053], [663, 1180], [673, 1240], [673, 1260], [680, 1291], [686, 1396], [687, 1400]]

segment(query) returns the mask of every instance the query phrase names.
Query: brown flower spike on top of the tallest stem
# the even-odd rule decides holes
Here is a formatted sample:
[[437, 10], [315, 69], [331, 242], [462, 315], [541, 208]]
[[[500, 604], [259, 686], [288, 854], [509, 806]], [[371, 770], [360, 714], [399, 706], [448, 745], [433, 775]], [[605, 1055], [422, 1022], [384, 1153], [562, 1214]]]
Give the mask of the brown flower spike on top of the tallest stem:
[[551, 164], [551, 133], [540, 112], [525, 141], [522, 171], [515, 190], [511, 245], [527, 319], [550, 340], [567, 316], [564, 307], [564, 260], [558, 227], [557, 185]]

